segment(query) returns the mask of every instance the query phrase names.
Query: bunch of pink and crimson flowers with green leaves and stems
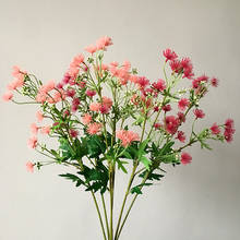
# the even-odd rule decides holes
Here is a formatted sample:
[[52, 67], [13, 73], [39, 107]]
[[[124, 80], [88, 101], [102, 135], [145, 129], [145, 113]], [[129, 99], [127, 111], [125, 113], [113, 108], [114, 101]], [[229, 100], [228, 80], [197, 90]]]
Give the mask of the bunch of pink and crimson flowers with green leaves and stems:
[[[189, 58], [180, 59], [166, 49], [164, 79], [151, 83], [137, 75], [129, 61], [106, 64], [104, 53], [110, 45], [111, 38], [103, 37], [86, 47], [88, 58], [82, 53], [74, 57], [59, 83], [43, 84], [34, 74], [13, 67], [14, 81], [3, 99], [38, 107], [38, 123], [31, 125], [28, 146], [49, 159], [28, 161], [27, 170], [51, 164], [72, 167], [73, 173], [60, 176], [92, 194], [104, 239], [118, 240], [136, 197], [143, 188], [161, 180], [165, 165], [190, 164], [192, 157], [185, 149], [195, 143], [211, 149], [208, 140], [231, 142], [235, 128], [233, 120], [227, 119], [195, 130], [205, 117], [200, 100], [218, 80], [194, 76]], [[189, 86], [178, 88], [180, 84]], [[16, 100], [15, 94], [27, 100]], [[182, 127], [188, 117], [191, 131], [187, 134]], [[48, 147], [40, 134], [57, 140], [59, 146]], [[130, 179], [115, 226], [117, 170], [129, 172]]]

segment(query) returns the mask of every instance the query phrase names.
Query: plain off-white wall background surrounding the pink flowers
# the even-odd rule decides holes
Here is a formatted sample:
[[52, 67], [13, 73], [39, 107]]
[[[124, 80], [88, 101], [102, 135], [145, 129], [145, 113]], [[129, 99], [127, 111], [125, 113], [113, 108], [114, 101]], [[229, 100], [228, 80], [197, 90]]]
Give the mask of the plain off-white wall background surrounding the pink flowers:
[[[72, 57], [104, 35], [113, 39], [107, 62], [128, 59], [153, 81], [167, 47], [191, 57], [196, 74], [220, 80], [202, 101], [202, 125], [233, 118], [235, 141], [213, 143], [213, 152], [195, 146], [191, 165], [168, 168], [137, 200], [122, 240], [239, 239], [239, 12], [238, 0], [0, 1], [1, 94], [12, 65], [60, 81]], [[26, 146], [36, 109], [0, 103], [0, 240], [101, 239], [91, 197], [58, 177], [61, 167], [26, 172], [25, 161], [39, 158]]]

